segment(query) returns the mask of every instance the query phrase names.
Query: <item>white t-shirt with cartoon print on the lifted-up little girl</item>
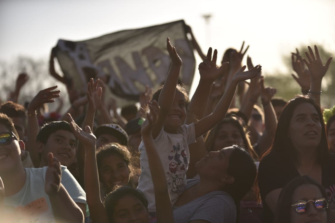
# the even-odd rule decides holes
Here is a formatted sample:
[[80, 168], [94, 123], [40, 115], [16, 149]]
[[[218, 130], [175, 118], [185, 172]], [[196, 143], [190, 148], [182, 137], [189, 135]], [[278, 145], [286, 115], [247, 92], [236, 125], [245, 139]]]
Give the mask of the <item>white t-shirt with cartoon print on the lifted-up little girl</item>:
[[[167, 187], [169, 189], [172, 205], [177, 201], [178, 196], [186, 187], [186, 172], [190, 160], [189, 144], [196, 141], [194, 123], [182, 125], [177, 134], [167, 133], [161, 129], [154, 139], [159, 157], [162, 161], [166, 175]], [[139, 146], [141, 176], [137, 189], [142, 191], [148, 199], [148, 210], [156, 212], [155, 195], [151, 179], [148, 157], [143, 140]]]

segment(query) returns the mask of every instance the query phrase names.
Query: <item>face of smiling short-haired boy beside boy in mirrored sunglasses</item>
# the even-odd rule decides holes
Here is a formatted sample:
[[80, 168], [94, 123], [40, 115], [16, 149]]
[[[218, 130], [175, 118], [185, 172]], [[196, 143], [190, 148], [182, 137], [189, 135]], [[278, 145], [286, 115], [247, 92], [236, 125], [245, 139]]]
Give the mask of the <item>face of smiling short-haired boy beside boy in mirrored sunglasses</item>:
[[37, 142], [37, 147], [42, 153], [41, 166], [48, 164], [48, 153], [52, 152], [63, 166], [70, 166], [76, 155], [77, 141], [72, 132], [57, 130], [50, 134], [47, 143]]

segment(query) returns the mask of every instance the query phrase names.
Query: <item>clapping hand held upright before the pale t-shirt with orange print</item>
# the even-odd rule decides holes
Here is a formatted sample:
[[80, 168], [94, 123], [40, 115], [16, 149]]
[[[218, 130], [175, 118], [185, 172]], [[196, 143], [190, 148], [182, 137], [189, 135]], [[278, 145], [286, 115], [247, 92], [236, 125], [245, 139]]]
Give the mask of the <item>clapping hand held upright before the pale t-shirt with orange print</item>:
[[54, 195], [60, 189], [62, 180], [61, 163], [54, 155], [48, 153], [48, 169], [45, 173], [45, 193], [47, 195]]

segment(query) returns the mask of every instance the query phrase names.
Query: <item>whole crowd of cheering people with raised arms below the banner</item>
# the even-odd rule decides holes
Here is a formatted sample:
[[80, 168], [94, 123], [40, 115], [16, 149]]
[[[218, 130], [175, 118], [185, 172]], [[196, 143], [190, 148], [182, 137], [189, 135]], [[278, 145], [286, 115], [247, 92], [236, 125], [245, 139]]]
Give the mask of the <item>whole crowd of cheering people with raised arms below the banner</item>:
[[264, 86], [262, 66], [249, 56], [242, 66], [249, 46], [227, 49], [218, 66], [217, 50], [205, 55], [186, 30], [203, 60], [191, 99], [169, 38], [165, 82], [121, 115], [103, 100], [103, 80], [77, 94], [54, 52], [64, 114], [48, 111], [57, 86], [18, 104], [28, 76], [17, 77], [0, 106], [1, 222], [335, 221], [335, 106], [320, 104], [332, 58], [324, 65], [317, 46], [306, 59], [292, 53], [302, 92], [287, 101]]

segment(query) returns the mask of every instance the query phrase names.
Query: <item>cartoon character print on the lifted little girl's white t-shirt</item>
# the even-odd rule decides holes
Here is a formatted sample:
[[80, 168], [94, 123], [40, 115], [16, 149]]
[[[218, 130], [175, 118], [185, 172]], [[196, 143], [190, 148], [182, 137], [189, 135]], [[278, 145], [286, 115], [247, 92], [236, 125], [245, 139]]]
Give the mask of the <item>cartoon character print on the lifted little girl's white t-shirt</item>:
[[172, 184], [172, 192], [182, 193], [186, 186], [186, 171], [188, 168], [185, 146], [183, 145], [183, 149], [181, 149], [180, 144], [177, 143], [173, 146], [171, 154], [167, 158], [171, 161], [169, 163], [170, 172], [167, 172], [168, 177], [166, 177], [167, 184]]

